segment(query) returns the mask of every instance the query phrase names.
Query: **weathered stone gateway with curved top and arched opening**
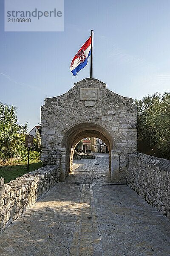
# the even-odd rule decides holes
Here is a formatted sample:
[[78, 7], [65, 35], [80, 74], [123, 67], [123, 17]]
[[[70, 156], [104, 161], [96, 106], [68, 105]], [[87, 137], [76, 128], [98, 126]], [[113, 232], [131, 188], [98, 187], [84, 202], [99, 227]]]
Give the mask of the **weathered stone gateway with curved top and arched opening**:
[[67, 93], [45, 99], [41, 108], [41, 160], [60, 165], [60, 180], [72, 171], [79, 140], [97, 137], [109, 150], [113, 183], [126, 183], [127, 153], [137, 152], [137, 109], [131, 98], [108, 90], [97, 79], [83, 79]]

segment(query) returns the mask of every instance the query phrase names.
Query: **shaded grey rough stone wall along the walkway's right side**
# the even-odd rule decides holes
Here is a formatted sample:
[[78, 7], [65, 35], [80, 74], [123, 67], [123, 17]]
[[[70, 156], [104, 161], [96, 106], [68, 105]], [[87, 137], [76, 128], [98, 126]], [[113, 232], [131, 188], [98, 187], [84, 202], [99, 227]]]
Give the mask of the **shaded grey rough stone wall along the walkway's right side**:
[[127, 184], [170, 219], [170, 161], [135, 153], [127, 155]]

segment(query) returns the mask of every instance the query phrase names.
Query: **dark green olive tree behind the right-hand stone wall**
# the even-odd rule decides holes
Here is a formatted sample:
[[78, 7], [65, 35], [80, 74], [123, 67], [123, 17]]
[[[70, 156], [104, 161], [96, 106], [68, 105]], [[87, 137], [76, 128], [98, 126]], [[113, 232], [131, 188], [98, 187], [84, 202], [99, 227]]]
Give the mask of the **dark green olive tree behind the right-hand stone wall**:
[[155, 93], [135, 100], [138, 109], [138, 140], [158, 148], [170, 159], [170, 92]]

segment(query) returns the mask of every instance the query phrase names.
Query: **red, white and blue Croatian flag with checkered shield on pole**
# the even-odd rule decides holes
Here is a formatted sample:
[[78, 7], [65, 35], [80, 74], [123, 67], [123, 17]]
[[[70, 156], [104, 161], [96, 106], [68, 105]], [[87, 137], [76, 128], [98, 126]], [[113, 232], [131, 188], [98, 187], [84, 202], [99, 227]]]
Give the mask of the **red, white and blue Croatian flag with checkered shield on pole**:
[[73, 73], [73, 76], [76, 76], [79, 70], [85, 67], [88, 63], [88, 58], [91, 55], [91, 36], [88, 40], [83, 44], [83, 46], [79, 49], [77, 54], [74, 56], [70, 70]]

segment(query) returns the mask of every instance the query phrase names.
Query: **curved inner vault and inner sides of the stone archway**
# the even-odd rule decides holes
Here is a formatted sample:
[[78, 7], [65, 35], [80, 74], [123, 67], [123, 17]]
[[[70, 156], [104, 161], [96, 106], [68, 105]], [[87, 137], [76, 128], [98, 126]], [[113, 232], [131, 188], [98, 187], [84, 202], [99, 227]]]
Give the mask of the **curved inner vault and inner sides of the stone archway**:
[[111, 150], [114, 149], [111, 134], [100, 125], [94, 123], [81, 123], [68, 130], [61, 143], [61, 147], [66, 148], [65, 177], [72, 171], [73, 154], [76, 145], [85, 137], [96, 137], [105, 142], [109, 151], [109, 172], [111, 172]]

